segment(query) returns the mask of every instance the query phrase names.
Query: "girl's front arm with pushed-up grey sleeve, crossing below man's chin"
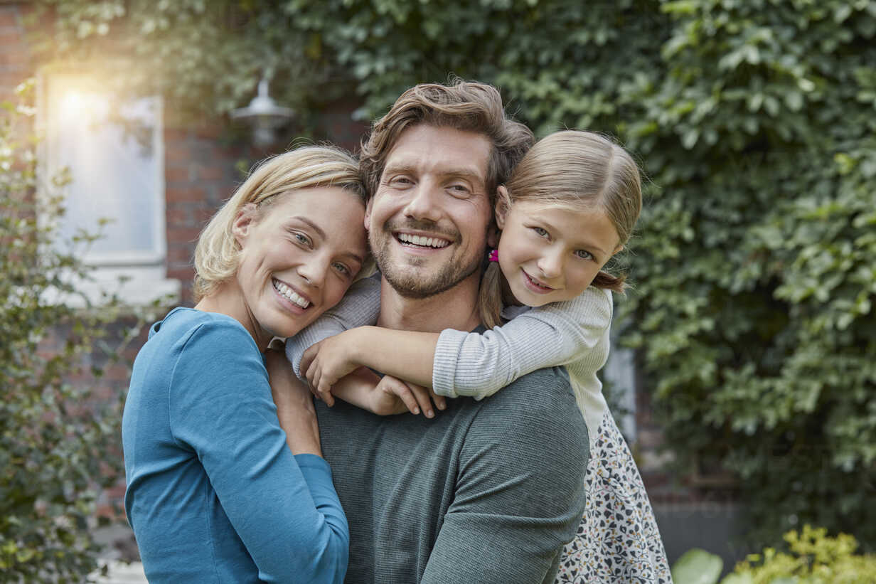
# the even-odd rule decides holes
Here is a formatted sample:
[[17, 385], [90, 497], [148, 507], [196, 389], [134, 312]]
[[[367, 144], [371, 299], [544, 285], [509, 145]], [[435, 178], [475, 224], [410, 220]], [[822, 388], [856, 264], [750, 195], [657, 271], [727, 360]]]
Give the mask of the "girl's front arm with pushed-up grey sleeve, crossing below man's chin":
[[364, 366], [437, 395], [480, 399], [535, 369], [581, 359], [610, 326], [611, 310], [611, 292], [587, 288], [569, 302], [528, 310], [483, 334], [360, 327], [314, 345], [301, 363], [321, 395]]

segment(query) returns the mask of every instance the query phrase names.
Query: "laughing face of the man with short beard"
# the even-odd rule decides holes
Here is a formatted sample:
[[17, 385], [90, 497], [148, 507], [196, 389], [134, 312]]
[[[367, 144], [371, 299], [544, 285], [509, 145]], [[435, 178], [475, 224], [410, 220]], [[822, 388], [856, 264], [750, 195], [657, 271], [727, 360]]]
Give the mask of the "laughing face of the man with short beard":
[[479, 277], [491, 207], [491, 144], [433, 125], [402, 132], [365, 213], [371, 251], [401, 296], [426, 298]]

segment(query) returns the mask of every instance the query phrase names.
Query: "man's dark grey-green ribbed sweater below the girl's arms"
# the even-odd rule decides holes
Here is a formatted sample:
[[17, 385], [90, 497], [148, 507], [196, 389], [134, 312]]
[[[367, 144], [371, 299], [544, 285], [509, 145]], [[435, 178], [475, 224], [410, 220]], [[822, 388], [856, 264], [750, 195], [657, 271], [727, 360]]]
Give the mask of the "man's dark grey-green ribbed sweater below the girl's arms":
[[554, 580], [584, 510], [587, 427], [569, 376], [540, 369], [434, 419], [317, 403], [350, 523], [348, 583]]

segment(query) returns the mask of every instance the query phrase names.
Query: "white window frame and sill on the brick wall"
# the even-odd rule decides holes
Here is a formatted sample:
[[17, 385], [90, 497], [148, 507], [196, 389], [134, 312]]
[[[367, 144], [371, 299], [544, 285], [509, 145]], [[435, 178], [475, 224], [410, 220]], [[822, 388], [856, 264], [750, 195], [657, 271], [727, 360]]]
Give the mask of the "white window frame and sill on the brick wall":
[[[43, 68], [37, 76], [37, 129], [43, 137], [39, 143], [38, 189], [46, 189], [54, 174], [62, 168], [47, 143], [48, 136], [48, 84], [77, 78], [88, 78], [87, 72]], [[50, 81], [52, 80], [52, 81]], [[75, 282], [76, 288], [85, 296], [88, 303], [99, 304], [105, 294], [117, 294], [126, 304], [144, 305], [156, 300], [163, 303], [178, 303], [180, 300], [180, 281], [167, 279], [167, 234], [166, 234], [166, 193], [165, 193], [165, 149], [164, 149], [164, 104], [160, 96], [155, 96], [155, 120], [152, 129], [152, 152], [155, 156], [154, 228], [153, 246], [150, 250], [127, 250], [118, 252], [89, 252], [84, 260], [94, 267], [91, 279]], [[71, 169], [74, 174], [75, 169]], [[39, 218], [39, 217], [38, 217]], [[96, 218], [96, 217], [95, 217]], [[43, 217], [42, 220], [46, 220]], [[120, 279], [124, 281], [120, 281]], [[56, 302], [69, 305], [84, 305], [81, 296], [57, 296]]]

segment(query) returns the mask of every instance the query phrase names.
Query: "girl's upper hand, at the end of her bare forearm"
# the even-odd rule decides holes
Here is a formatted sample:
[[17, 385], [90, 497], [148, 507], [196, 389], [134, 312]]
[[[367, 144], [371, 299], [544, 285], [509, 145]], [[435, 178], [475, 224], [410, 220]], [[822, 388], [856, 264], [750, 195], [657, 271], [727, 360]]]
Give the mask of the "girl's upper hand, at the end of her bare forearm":
[[356, 329], [351, 329], [325, 338], [307, 349], [301, 357], [300, 370], [307, 377], [310, 390], [329, 407], [335, 405], [331, 387], [344, 375], [363, 365], [355, 358], [356, 332]]

